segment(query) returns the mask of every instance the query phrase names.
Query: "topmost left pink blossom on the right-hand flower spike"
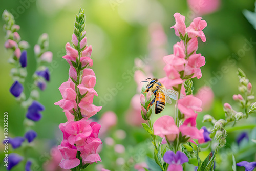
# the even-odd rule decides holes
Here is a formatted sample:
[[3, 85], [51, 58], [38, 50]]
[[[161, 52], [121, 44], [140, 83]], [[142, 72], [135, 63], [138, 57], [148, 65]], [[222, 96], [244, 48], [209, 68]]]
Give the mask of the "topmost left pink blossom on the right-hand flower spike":
[[171, 29], [174, 28], [176, 36], [180, 37], [180, 33], [182, 34], [182, 36], [184, 36], [186, 34], [185, 16], [180, 15], [180, 13], [176, 12], [174, 14], [174, 18], [176, 23], [174, 26], [171, 27]]

